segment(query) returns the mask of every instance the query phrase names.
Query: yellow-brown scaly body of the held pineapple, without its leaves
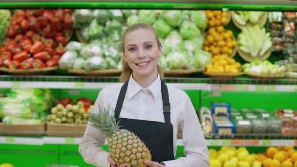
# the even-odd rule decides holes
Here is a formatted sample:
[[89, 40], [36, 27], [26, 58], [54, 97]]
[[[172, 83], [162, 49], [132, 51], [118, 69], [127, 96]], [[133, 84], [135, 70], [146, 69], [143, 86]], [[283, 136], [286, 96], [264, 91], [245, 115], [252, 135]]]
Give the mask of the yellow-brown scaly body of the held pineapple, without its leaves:
[[130, 167], [147, 167], [145, 160], [151, 161], [148, 147], [134, 133], [121, 129], [107, 137], [110, 157], [117, 166], [127, 163]]

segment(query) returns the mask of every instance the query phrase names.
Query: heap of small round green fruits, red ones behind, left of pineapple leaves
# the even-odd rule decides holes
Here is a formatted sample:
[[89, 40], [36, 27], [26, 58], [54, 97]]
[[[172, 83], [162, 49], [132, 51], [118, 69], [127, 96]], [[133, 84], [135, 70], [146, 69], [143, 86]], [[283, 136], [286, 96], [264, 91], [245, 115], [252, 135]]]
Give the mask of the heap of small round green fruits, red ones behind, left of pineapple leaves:
[[85, 108], [85, 103], [82, 101], [73, 104], [73, 101], [64, 98], [51, 108], [51, 114], [46, 117], [46, 121], [56, 124], [87, 124], [87, 112], [92, 109], [93, 105]]

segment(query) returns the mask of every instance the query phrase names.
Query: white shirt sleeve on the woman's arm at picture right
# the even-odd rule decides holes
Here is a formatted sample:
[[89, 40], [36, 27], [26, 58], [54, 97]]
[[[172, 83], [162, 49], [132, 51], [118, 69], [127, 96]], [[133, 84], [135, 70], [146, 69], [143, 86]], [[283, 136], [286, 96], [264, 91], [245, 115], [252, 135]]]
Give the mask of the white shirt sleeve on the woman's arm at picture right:
[[197, 114], [189, 96], [186, 93], [184, 95], [180, 127], [186, 157], [163, 163], [166, 167], [209, 167], [209, 152]]

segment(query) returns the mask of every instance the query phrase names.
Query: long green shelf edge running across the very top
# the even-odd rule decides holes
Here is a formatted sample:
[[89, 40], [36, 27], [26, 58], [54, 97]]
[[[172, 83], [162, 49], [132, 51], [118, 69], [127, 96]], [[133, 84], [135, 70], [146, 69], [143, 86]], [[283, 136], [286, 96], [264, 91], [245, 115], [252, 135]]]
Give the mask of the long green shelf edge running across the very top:
[[0, 8], [129, 8], [296, 11], [295, 0], [0, 0]]

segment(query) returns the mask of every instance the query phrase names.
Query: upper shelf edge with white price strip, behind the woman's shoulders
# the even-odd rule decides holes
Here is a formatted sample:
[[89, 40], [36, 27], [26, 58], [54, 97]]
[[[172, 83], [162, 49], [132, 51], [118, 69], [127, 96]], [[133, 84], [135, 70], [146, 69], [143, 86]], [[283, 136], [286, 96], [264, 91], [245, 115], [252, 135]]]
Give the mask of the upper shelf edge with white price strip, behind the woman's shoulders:
[[[0, 88], [102, 89], [118, 82], [118, 77], [0, 76]], [[297, 80], [292, 79], [165, 78], [165, 83], [183, 90], [297, 91]]]

